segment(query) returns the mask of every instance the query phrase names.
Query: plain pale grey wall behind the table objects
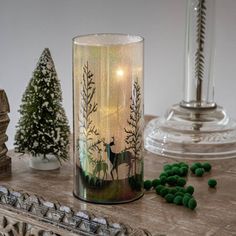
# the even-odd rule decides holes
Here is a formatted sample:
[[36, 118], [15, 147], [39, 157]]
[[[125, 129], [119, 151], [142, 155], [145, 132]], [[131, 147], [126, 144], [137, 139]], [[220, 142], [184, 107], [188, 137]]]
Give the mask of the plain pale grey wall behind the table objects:
[[[49, 47], [72, 124], [72, 37], [113, 32], [145, 38], [145, 113], [182, 98], [186, 0], [0, 0], [0, 87], [13, 147], [22, 94]], [[215, 100], [236, 118], [236, 0], [216, 0]]]

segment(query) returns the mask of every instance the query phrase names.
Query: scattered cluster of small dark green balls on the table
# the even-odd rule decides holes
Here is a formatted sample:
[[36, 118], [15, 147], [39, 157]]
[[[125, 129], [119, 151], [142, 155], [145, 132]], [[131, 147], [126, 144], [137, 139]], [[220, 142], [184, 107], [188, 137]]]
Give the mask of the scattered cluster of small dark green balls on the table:
[[[166, 164], [158, 179], [144, 181], [144, 188], [155, 189], [156, 193], [165, 198], [168, 203], [183, 205], [194, 210], [197, 206], [197, 201], [193, 197], [194, 187], [191, 185], [184, 187], [186, 185], [184, 177], [188, 175], [189, 169], [196, 176], [202, 176], [205, 171], [211, 170], [211, 165], [207, 162], [193, 163], [189, 168], [185, 162]], [[208, 180], [210, 187], [215, 187], [216, 184], [215, 179]]]

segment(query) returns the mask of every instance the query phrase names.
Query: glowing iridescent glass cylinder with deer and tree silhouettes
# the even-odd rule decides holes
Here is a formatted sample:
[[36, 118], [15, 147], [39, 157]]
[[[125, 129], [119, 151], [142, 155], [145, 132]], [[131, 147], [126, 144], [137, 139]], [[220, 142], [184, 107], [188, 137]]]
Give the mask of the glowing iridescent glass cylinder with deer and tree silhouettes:
[[143, 195], [143, 38], [73, 39], [74, 195], [112, 204]]

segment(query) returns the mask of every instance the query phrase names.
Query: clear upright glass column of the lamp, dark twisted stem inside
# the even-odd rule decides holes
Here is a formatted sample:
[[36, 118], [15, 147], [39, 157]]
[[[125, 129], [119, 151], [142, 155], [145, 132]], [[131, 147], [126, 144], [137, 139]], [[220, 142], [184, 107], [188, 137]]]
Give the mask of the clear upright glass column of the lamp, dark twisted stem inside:
[[215, 0], [188, 0], [184, 97], [188, 108], [214, 108]]

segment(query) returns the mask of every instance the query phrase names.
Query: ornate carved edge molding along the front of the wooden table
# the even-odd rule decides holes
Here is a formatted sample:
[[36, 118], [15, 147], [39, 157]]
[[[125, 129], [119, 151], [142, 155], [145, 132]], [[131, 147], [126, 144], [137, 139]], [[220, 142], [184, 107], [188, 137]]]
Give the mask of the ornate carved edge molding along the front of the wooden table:
[[[4, 212], [6, 214], [4, 214]], [[9, 213], [9, 215], [7, 215]], [[0, 236], [148, 236], [143, 229], [97, 217], [42, 197], [0, 186]]]

